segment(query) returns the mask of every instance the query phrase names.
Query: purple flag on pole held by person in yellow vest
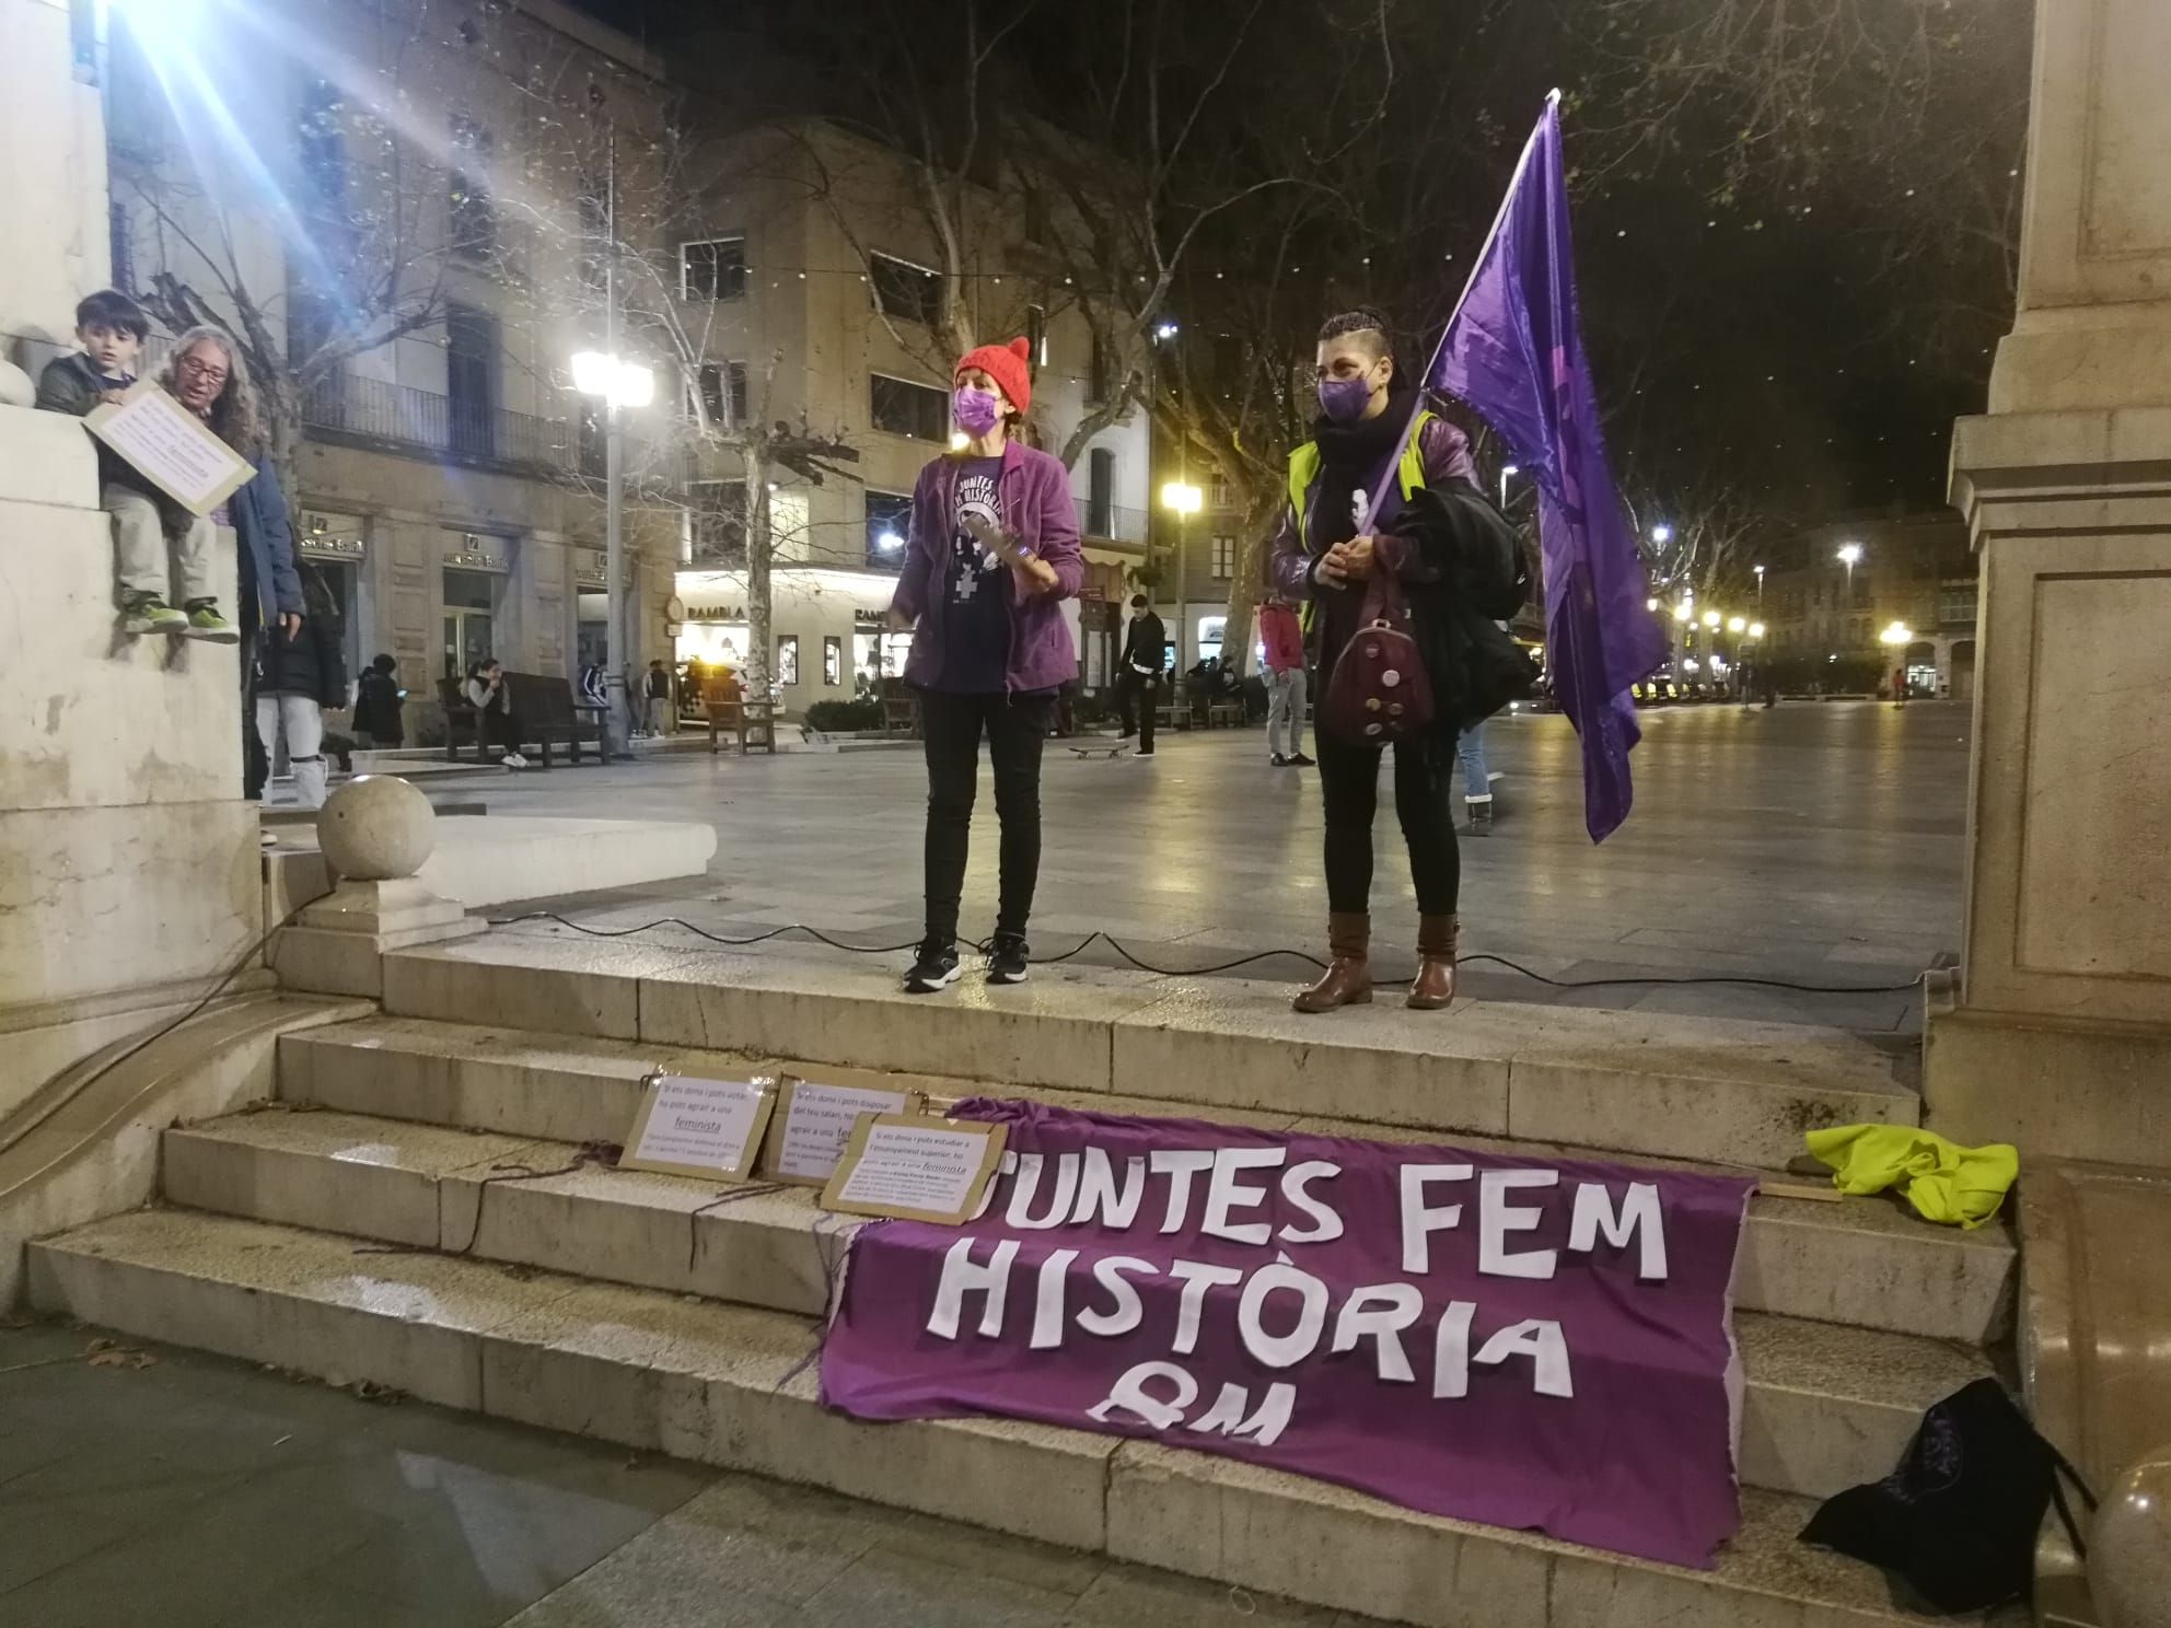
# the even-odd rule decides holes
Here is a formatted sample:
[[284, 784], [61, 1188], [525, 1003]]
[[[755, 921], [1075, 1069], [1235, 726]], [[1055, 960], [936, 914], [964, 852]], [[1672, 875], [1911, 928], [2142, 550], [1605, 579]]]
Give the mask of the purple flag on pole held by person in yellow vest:
[[1613, 488], [1583, 358], [1559, 93], [1524, 148], [1426, 382], [1481, 412], [1537, 482], [1546, 660], [1583, 736], [1583, 823], [1604, 842], [1635, 799], [1628, 749], [1641, 729], [1628, 686], [1665, 660], [1665, 629], [1643, 608], [1650, 580]]

